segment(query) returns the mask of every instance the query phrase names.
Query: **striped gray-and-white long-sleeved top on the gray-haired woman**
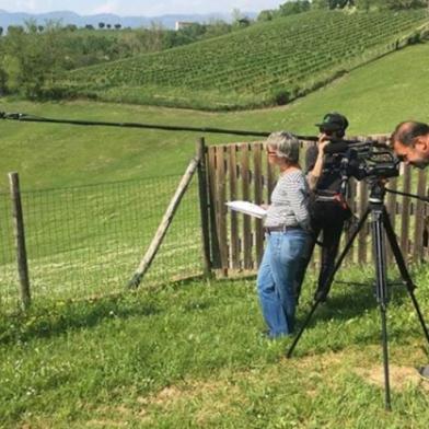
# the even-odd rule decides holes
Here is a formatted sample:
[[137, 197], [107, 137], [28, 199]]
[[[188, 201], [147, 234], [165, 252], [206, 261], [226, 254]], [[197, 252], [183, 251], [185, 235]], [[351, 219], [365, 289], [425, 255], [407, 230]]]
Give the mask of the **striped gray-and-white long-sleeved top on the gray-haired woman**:
[[271, 194], [265, 227], [301, 227], [310, 229], [309, 185], [301, 170], [280, 175]]

